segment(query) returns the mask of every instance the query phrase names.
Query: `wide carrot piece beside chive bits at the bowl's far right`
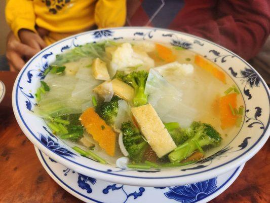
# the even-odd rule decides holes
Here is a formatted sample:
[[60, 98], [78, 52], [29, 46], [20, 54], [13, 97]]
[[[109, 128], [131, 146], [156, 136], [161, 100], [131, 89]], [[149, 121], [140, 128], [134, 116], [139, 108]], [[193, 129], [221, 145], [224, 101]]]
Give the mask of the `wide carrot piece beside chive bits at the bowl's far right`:
[[234, 115], [230, 106], [235, 109], [237, 106], [237, 93], [227, 94], [219, 99], [219, 112], [221, 128], [232, 127], [236, 124], [237, 115]]

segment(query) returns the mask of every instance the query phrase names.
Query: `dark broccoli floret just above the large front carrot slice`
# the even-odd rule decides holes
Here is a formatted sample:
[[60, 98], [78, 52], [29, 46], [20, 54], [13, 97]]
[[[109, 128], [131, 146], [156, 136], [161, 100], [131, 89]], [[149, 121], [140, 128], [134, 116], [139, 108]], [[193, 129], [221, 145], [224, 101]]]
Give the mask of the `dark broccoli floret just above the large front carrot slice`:
[[108, 125], [113, 125], [118, 113], [118, 96], [113, 96], [110, 101], [98, 104], [96, 107], [97, 114], [105, 120]]

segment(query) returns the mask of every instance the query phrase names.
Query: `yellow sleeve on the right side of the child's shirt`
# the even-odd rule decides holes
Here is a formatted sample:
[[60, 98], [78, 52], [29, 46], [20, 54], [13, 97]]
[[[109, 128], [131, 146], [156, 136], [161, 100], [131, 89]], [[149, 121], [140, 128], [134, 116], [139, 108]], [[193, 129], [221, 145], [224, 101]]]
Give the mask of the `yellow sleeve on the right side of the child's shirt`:
[[95, 7], [98, 28], [119, 27], [126, 22], [126, 0], [99, 0]]

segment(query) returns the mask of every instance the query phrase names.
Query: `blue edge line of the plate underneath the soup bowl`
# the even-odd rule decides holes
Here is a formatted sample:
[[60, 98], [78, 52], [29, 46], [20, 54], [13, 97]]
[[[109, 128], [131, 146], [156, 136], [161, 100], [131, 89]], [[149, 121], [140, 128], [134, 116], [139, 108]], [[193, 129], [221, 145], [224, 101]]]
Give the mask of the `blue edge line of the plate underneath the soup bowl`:
[[[36, 151], [37, 152], [37, 151]], [[93, 198], [91, 198], [91, 197], [88, 197], [88, 196], [86, 196], [86, 195], [84, 195], [84, 194], [82, 194], [82, 193], [80, 193], [80, 192], [78, 192], [77, 190], [75, 190], [75, 189], [73, 189], [72, 187], [70, 187], [69, 185], [67, 185], [64, 181], [62, 181], [62, 179], [60, 179], [55, 173], [54, 173], [54, 171], [52, 170], [52, 168], [48, 165], [48, 163], [47, 163], [47, 161], [45, 160], [45, 158], [44, 158], [44, 156], [43, 156], [43, 154], [42, 154], [42, 151], [41, 150], [39, 150], [38, 149], [38, 152], [40, 153], [40, 155], [41, 155], [41, 158], [42, 158], [42, 160], [43, 160], [43, 162], [45, 163], [45, 165], [47, 166], [47, 168], [49, 169], [49, 171], [54, 175], [54, 177], [55, 178], [57, 178], [64, 186], [66, 186], [68, 189], [70, 189], [70, 190], [72, 190], [73, 192], [75, 192], [75, 193], [77, 193], [77, 194], [79, 194], [79, 195], [81, 195], [81, 196], [83, 196], [83, 197], [85, 197], [85, 198], [87, 198], [87, 199], [90, 199], [90, 200], [92, 200], [92, 201], [95, 201], [95, 202], [98, 202], [98, 203], [104, 203], [104, 202], [102, 202], [102, 201], [99, 201], [99, 200], [96, 200], [96, 199], [93, 199]], [[41, 161], [41, 160], [40, 160]], [[241, 165], [242, 166], [242, 165]], [[241, 166], [238, 166], [237, 168], [236, 168], [236, 170], [234, 171], [234, 173], [222, 184], [222, 185], [220, 185], [217, 189], [215, 189], [213, 192], [211, 192], [211, 193], [209, 193], [209, 194], [207, 194], [203, 199], [205, 199], [205, 198], [207, 198], [207, 197], [209, 197], [209, 196], [211, 196], [211, 195], [213, 195], [214, 193], [216, 193], [217, 191], [219, 191], [220, 189], [222, 189], [234, 176], [235, 176], [235, 174], [239, 171], [239, 169], [240, 168], [242, 168]], [[242, 171], [242, 170], [241, 170]], [[240, 173], [241, 173], [241, 171], [240, 171]], [[225, 188], [226, 189], [226, 188]], [[213, 197], [214, 198], [214, 197]], [[200, 201], [201, 200], [203, 200], [203, 199], [200, 199]]]

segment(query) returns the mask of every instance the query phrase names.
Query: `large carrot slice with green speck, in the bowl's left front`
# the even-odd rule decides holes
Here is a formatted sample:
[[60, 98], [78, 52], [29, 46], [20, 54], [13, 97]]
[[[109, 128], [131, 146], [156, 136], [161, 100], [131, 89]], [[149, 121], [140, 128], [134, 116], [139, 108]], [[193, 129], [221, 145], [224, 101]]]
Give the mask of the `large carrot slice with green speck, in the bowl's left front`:
[[114, 156], [116, 134], [105, 121], [99, 117], [94, 108], [88, 108], [80, 117], [82, 125], [99, 146], [110, 156]]

